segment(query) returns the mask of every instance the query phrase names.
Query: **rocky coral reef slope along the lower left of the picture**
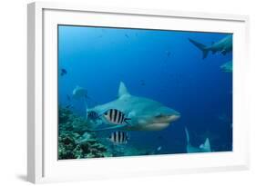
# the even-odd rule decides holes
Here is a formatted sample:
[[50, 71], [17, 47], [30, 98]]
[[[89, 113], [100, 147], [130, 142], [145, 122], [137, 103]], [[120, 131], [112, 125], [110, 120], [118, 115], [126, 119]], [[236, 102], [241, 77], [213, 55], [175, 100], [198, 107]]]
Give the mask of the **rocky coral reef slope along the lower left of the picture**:
[[151, 152], [133, 146], [101, 142], [96, 132], [88, 132], [87, 121], [59, 106], [58, 160], [148, 155]]

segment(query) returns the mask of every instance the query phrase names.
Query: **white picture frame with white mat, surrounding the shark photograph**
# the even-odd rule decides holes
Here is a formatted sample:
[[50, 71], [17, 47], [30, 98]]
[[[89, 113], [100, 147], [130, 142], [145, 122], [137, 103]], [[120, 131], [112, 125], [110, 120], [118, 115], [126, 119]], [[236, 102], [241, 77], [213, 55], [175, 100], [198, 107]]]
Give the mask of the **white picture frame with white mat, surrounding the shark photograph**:
[[[28, 5], [27, 23], [28, 181], [86, 181], [249, 168], [249, 122], [246, 117], [249, 107], [244, 99], [249, 69], [248, 16], [40, 2]], [[233, 33], [233, 151], [57, 161], [57, 24]]]

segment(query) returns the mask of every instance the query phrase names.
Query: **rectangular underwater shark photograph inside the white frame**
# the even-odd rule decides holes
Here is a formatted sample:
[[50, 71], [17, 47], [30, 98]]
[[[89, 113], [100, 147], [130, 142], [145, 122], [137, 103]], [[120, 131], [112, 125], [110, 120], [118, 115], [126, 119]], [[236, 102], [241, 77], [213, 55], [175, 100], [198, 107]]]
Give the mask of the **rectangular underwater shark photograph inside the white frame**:
[[232, 151], [232, 34], [59, 24], [58, 160]]

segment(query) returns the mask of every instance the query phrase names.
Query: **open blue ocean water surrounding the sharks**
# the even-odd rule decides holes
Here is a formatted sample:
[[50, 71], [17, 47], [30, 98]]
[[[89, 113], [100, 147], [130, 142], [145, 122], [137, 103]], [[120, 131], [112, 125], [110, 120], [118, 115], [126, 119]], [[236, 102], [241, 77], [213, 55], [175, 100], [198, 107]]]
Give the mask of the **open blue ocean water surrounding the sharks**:
[[210, 139], [214, 152], [232, 151], [232, 73], [220, 65], [232, 53], [209, 54], [189, 42], [211, 45], [228, 34], [128, 28], [58, 26], [59, 105], [86, 114], [85, 103], [70, 101], [78, 85], [87, 90], [87, 106], [117, 98], [122, 81], [129, 93], [163, 103], [181, 114], [158, 132], [129, 132], [130, 144], [160, 153], [186, 152], [185, 127], [190, 143], [199, 147]]

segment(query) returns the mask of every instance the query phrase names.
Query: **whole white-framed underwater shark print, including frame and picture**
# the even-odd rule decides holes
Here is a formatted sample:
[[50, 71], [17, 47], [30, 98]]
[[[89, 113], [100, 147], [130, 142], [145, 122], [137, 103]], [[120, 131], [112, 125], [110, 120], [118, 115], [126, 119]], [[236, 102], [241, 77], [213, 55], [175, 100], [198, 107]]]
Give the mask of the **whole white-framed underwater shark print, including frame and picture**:
[[247, 169], [248, 20], [28, 5], [28, 181]]

